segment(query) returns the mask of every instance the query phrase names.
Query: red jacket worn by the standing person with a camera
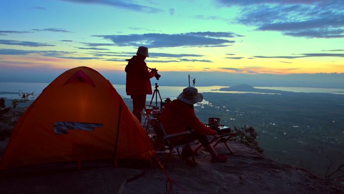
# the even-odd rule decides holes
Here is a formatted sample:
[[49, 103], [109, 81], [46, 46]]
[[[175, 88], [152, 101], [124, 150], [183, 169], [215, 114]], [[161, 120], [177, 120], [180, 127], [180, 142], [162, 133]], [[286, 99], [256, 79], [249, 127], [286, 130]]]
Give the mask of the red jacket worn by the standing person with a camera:
[[128, 64], [125, 67], [125, 72], [127, 73], [127, 95], [152, 94], [149, 79], [154, 77], [155, 73], [148, 72], [146, 62], [137, 55], [127, 60]]

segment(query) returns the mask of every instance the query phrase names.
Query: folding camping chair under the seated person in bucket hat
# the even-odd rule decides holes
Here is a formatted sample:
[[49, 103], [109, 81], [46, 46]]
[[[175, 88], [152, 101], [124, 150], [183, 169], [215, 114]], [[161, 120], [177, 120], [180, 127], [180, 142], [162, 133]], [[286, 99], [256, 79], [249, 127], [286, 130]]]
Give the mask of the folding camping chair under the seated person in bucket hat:
[[[163, 165], [164, 167], [167, 166], [168, 162], [169, 162], [169, 159], [171, 157], [171, 154], [174, 152], [174, 149], [177, 150], [177, 153], [178, 155], [185, 159], [188, 164], [190, 164], [191, 166], [196, 166], [197, 163], [195, 161], [195, 157], [192, 155], [191, 157], [191, 160], [189, 160], [188, 158], [186, 157], [183, 157], [182, 156], [182, 151], [180, 150], [181, 148], [184, 148], [185, 146], [190, 146], [190, 143], [192, 142], [188, 142], [188, 143], [183, 143], [183, 144], [173, 144], [170, 142], [170, 139], [171, 138], [175, 138], [175, 137], [181, 137], [181, 136], [187, 136], [187, 135], [190, 135], [193, 131], [185, 131], [185, 132], [182, 132], [182, 133], [177, 133], [177, 134], [168, 134], [166, 133], [165, 129], [163, 128], [163, 125], [161, 123], [161, 121], [158, 119], [158, 118], [153, 118], [153, 117], [149, 117], [148, 118], [148, 121], [150, 123], [150, 125], [153, 127], [154, 129], [154, 132], [156, 133], [157, 137], [164, 143], [164, 145], [168, 148], [168, 156], [167, 156], [167, 159], [165, 161], [165, 164]], [[195, 143], [197, 144], [197, 143]]]

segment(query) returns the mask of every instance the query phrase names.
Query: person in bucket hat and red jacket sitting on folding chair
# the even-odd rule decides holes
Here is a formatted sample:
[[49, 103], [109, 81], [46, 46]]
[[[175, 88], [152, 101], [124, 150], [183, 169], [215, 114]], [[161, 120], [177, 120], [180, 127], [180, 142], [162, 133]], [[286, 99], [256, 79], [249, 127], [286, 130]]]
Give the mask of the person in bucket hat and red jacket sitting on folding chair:
[[[211, 128], [206, 127], [196, 116], [194, 104], [202, 102], [203, 95], [194, 87], [188, 87], [169, 103], [161, 113], [160, 120], [167, 134], [176, 134], [193, 129], [194, 132], [183, 137], [171, 138], [171, 144], [180, 145], [198, 139], [202, 146], [211, 154], [212, 162], [225, 162], [227, 156], [218, 154], [210, 145], [207, 135], [216, 135]], [[185, 150], [183, 150], [184, 152]]]

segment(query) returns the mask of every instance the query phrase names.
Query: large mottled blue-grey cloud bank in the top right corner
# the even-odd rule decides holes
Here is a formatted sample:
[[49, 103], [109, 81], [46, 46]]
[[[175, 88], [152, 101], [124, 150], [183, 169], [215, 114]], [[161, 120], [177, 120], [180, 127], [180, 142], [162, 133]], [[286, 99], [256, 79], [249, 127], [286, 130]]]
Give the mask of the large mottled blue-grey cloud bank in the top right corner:
[[284, 35], [306, 38], [344, 37], [343, 1], [217, 2], [224, 6], [240, 6], [237, 23], [255, 26], [256, 30], [279, 31]]

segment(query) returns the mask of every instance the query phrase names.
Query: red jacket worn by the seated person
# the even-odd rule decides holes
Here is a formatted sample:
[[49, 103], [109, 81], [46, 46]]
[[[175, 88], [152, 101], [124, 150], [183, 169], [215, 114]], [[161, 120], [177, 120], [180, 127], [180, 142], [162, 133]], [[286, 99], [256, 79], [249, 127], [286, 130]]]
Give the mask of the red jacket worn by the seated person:
[[178, 99], [165, 107], [160, 119], [167, 134], [185, 132], [192, 128], [201, 135], [215, 135], [211, 128], [197, 118], [193, 105]]

